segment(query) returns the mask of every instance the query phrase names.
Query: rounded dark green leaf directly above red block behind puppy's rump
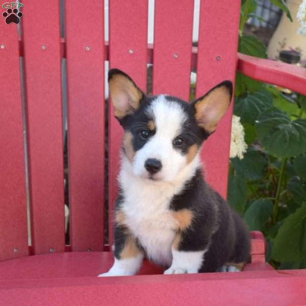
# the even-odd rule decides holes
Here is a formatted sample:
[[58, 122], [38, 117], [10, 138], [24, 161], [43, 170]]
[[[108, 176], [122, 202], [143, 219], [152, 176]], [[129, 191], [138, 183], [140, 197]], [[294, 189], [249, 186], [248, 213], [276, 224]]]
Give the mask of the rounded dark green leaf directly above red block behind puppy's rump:
[[261, 231], [273, 212], [273, 203], [269, 199], [253, 201], [244, 214], [250, 231]]

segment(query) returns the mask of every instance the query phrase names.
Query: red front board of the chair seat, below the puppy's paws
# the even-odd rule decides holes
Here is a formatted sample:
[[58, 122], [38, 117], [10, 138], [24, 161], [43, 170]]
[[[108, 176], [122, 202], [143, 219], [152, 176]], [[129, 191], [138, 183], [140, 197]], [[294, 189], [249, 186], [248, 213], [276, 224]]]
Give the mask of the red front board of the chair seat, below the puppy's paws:
[[306, 270], [0, 282], [6, 305], [306, 304]]

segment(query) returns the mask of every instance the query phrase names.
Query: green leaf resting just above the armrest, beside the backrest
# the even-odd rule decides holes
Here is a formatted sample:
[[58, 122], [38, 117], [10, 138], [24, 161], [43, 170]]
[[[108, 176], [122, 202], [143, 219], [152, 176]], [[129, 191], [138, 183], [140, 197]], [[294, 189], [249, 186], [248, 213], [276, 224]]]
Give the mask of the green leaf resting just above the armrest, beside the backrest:
[[254, 36], [240, 36], [238, 42], [238, 51], [240, 53], [267, 59], [266, 46]]

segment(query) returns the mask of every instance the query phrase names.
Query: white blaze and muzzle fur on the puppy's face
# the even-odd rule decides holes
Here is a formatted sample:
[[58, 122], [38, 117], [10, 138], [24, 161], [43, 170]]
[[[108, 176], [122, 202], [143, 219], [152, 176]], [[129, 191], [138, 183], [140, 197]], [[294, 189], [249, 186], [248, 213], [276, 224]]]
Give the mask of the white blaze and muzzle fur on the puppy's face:
[[133, 172], [135, 175], [148, 177], [144, 164], [147, 159], [154, 158], [162, 163], [162, 169], [154, 175], [154, 179], [166, 182], [173, 181], [187, 164], [186, 155], [183, 155], [180, 150], [174, 149], [172, 145], [173, 140], [182, 131], [187, 114], [178, 103], [166, 100], [164, 95], [160, 95], [152, 101], [146, 112], [154, 118], [156, 133], [137, 151]]

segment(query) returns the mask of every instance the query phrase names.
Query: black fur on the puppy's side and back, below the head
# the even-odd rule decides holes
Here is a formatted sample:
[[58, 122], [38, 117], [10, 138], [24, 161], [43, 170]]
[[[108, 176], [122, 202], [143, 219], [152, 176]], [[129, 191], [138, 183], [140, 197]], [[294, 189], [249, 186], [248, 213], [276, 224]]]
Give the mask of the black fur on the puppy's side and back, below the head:
[[248, 261], [250, 238], [244, 221], [202, 179], [200, 169], [186, 183], [183, 192], [172, 198], [170, 209], [193, 212], [190, 227], [180, 233], [179, 250], [208, 248], [199, 272], [214, 272], [227, 262]]

